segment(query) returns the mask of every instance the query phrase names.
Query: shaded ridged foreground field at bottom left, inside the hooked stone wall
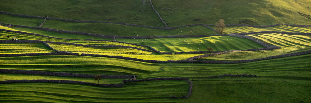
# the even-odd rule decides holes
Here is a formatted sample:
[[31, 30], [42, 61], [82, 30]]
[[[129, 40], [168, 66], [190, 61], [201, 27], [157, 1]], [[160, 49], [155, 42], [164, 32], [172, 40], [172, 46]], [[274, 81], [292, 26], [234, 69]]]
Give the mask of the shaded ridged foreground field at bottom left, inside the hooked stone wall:
[[2, 102], [12, 99], [15, 102], [173, 102], [175, 99], [151, 97], [183, 96], [189, 91], [189, 84], [181, 80], [125, 83], [122, 88], [56, 83], [1, 84], [0, 87]]

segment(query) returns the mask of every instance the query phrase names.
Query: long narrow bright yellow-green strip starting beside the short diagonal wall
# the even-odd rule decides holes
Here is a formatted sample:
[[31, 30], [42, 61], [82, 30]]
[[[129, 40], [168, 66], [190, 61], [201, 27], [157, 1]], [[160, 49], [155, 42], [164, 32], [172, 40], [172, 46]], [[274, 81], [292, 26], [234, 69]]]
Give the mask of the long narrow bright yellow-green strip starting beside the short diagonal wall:
[[93, 48], [93, 47], [81, 47], [72, 45], [60, 45], [51, 44], [51, 47], [60, 51], [74, 52], [74, 53], [87, 53], [87, 54], [101, 54], [110, 56], [123, 56], [144, 60], [185, 60], [193, 56], [203, 55], [203, 54], [179, 54], [179, 55], [168, 55], [168, 54], [158, 54], [146, 51], [141, 51], [137, 49], [129, 48]]

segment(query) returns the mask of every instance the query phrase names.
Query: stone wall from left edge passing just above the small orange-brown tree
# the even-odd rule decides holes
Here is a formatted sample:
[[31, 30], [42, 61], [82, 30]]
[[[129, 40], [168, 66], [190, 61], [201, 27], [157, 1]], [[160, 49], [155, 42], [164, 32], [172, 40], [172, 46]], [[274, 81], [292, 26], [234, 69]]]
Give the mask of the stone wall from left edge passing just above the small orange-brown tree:
[[[94, 74], [77, 74], [67, 72], [44, 72], [44, 71], [32, 71], [32, 70], [12, 70], [12, 69], [0, 69], [0, 73], [15, 73], [15, 74], [34, 74], [34, 75], [47, 75], [47, 76], [70, 76], [70, 77], [83, 77], [94, 78]], [[103, 75], [101, 78], [133, 78], [138, 77], [136, 75]]]

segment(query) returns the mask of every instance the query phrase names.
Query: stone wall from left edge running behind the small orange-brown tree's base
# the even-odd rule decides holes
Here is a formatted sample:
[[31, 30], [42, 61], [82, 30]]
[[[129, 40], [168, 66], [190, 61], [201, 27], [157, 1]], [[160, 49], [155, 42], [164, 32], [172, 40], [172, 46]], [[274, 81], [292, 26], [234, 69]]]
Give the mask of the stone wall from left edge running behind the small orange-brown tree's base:
[[101, 87], [123, 87], [122, 84], [95, 84], [89, 82], [82, 81], [71, 81], [71, 80], [7, 80], [0, 81], [0, 84], [8, 84], [8, 83], [70, 83], [70, 84], [85, 84], [85, 85], [93, 85], [93, 86], [101, 86]]

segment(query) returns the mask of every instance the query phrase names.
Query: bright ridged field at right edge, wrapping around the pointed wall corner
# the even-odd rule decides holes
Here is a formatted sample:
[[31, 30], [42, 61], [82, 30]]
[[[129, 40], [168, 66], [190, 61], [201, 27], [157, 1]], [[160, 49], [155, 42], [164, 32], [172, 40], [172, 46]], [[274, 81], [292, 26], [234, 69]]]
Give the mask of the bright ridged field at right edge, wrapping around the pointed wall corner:
[[308, 51], [310, 50], [308, 48], [311, 47], [311, 39], [308, 35], [256, 34], [247, 36], [254, 37], [271, 45], [280, 46], [281, 49], [231, 52], [223, 55], [204, 57], [197, 60], [235, 61], [257, 59], [286, 53]]

